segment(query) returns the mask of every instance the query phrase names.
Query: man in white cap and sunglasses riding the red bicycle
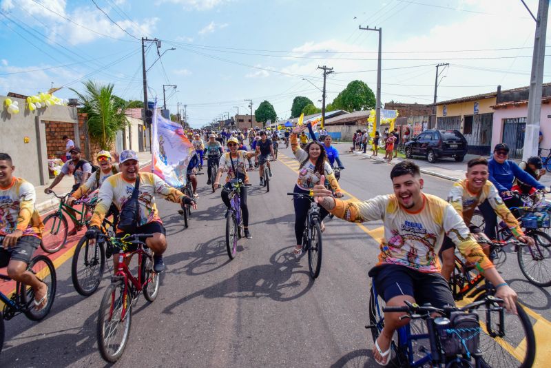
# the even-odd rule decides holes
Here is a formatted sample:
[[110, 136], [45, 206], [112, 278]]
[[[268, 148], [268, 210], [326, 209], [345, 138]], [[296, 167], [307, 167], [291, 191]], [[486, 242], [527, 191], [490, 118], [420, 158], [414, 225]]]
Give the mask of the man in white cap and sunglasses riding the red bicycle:
[[171, 187], [156, 174], [139, 172], [138, 156], [132, 150], [121, 152], [118, 167], [121, 172], [109, 176], [99, 189], [99, 201], [94, 210], [92, 221], [90, 221], [90, 230], [86, 232], [86, 235], [92, 238], [101, 231], [101, 223], [112, 203], [121, 211], [125, 202], [132, 198], [134, 187], [138, 182], [138, 203], [140, 207], [135, 234], [153, 234], [153, 237], [147, 238], [145, 243], [155, 254], [154, 271], [157, 273], [163, 272], [165, 270], [163, 253], [167, 249], [167, 239], [165, 238], [166, 232], [163, 221], [160, 219], [155, 204], [155, 196], [161, 196], [174, 203], [181, 204], [183, 202], [191, 205], [194, 209], [197, 209], [197, 205], [193, 198], [189, 198]]

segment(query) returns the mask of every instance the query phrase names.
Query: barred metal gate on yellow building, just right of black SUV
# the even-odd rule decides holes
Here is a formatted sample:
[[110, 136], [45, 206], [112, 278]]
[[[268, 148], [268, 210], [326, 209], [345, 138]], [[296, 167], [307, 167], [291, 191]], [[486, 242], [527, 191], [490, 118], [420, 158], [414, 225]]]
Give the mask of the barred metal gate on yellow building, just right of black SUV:
[[463, 135], [468, 143], [468, 154], [481, 156], [490, 154], [493, 119], [493, 113], [465, 116]]

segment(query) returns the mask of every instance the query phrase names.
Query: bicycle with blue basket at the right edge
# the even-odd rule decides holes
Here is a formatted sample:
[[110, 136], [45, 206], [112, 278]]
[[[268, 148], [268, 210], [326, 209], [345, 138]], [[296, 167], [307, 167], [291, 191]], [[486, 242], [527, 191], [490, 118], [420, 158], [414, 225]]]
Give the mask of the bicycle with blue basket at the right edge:
[[[537, 221], [523, 221], [523, 218], [519, 221], [524, 234], [533, 238], [535, 244], [515, 243], [514, 252], [517, 253], [519, 268], [530, 283], [539, 287], [551, 286], [551, 236], [539, 230]], [[471, 223], [484, 230], [486, 223], [479, 209], [473, 213]], [[496, 241], [511, 243], [512, 237], [505, 223], [496, 226]]]

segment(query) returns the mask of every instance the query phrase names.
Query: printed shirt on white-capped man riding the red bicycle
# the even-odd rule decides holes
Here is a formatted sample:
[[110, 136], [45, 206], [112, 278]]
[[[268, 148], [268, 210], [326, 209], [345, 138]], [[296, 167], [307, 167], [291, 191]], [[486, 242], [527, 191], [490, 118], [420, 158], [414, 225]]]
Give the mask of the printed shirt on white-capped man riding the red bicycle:
[[[138, 188], [138, 203], [140, 203], [140, 221], [137, 226], [147, 223], [163, 223], [158, 215], [155, 204], [155, 196], [167, 199], [174, 203], [182, 201], [182, 192], [168, 185], [163, 179], [151, 172], [141, 172], [140, 187]], [[121, 173], [114, 174], [107, 178], [98, 193], [98, 204], [92, 215], [92, 226], [100, 227], [105, 214], [109, 210], [111, 203], [120, 211], [123, 204], [132, 198], [132, 192], [136, 182], [125, 181]]]

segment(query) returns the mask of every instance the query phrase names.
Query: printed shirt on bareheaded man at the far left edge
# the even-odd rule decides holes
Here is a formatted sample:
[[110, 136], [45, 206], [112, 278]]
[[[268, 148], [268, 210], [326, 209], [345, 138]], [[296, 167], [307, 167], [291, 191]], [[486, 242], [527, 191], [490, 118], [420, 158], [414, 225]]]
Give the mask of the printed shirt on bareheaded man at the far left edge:
[[34, 208], [37, 193], [34, 186], [22, 178], [13, 178], [8, 187], [0, 187], [0, 235], [11, 234], [16, 229], [24, 236], [42, 238], [44, 225]]

